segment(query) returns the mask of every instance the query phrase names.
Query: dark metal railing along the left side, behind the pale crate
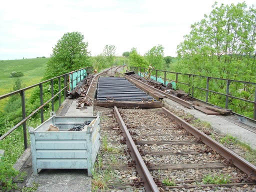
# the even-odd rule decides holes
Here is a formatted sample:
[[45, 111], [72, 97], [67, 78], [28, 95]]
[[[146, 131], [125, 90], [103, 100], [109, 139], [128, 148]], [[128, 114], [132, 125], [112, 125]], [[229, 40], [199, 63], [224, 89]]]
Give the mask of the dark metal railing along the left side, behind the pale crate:
[[[27, 148], [27, 134], [26, 134], [26, 121], [37, 111], [40, 110], [40, 119], [41, 123], [44, 121], [44, 114], [43, 114], [43, 107], [48, 104], [51, 101], [51, 111], [54, 111], [54, 98], [58, 96], [58, 106], [61, 104], [61, 92], [63, 91], [64, 99], [66, 98], [66, 91], [67, 88], [70, 86], [70, 90], [74, 88], [73, 84], [77, 84], [77, 82], [81, 79], [83, 79], [86, 76], [86, 72], [91, 73], [93, 70], [92, 66], [85, 67], [78, 69], [76, 71], [71, 71], [69, 73], [65, 73], [56, 77], [53, 77], [51, 79], [39, 82], [37, 84], [33, 84], [31, 86], [21, 88], [19, 90], [15, 90], [13, 92], [0, 95], [0, 100], [3, 98], [10, 97], [12, 95], [20, 94], [21, 96], [21, 109], [22, 109], [22, 120], [19, 121], [16, 125], [14, 125], [12, 128], [10, 128], [7, 132], [5, 132], [3, 135], [0, 136], [0, 140], [4, 139], [6, 136], [8, 136], [13, 130], [15, 130], [17, 127], [19, 127], [21, 124], [23, 126], [23, 137], [24, 137], [24, 149]], [[74, 74], [77, 74], [74, 76]], [[61, 88], [61, 80], [62, 80], [62, 86]], [[67, 82], [68, 80], [68, 82]], [[58, 92], [54, 94], [54, 81], [57, 81], [58, 83]], [[48, 99], [46, 102], [43, 103], [43, 84], [44, 83], [49, 83], [50, 82], [50, 87], [51, 87], [51, 98]], [[74, 83], [73, 83], [74, 82]], [[26, 108], [25, 108], [25, 91], [28, 89], [31, 89], [33, 87], [39, 86], [40, 88], [40, 106], [33, 110], [29, 115], [26, 116]]]

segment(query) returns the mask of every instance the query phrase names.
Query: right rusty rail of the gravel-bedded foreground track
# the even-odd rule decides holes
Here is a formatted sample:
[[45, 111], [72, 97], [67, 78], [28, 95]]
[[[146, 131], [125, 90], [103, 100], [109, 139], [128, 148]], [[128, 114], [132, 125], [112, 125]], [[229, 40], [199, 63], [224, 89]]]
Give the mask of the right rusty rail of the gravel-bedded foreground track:
[[245, 160], [244, 158], [240, 157], [227, 147], [223, 146], [219, 142], [215, 141], [208, 135], [204, 134], [202, 131], [198, 130], [194, 126], [190, 125], [188, 122], [184, 121], [183, 119], [179, 118], [178, 116], [172, 114], [169, 110], [162, 107], [162, 111], [164, 114], [168, 115], [169, 118], [174, 120], [192, 135], [200, 139], [204, 144], [208, 145], [210, 148], [214, 149], [218, 152], [221, 156], [223, 156], [227, 161], [244, 173], [246, 173], [249, 177], [251, 176], [252, 179], [256, 180], [256, 166]]

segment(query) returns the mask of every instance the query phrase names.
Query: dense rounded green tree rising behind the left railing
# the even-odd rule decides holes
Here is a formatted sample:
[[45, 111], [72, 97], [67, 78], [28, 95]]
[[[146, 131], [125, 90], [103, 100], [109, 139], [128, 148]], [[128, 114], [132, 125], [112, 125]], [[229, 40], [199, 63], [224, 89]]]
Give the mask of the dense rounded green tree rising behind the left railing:
[[91, 65], [88, 42], [83, 42], [83, 38], [80, 32], [67, 32], [57, 41], [47, 62], [44, 79]]

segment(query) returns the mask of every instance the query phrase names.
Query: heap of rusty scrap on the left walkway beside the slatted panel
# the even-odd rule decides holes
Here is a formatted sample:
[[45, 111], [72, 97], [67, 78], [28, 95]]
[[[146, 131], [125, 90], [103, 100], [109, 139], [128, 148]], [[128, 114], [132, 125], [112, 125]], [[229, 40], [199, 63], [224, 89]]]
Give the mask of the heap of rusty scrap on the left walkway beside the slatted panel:
[[88, 74], [84, 79], [80, 80], [72, 91], [69, 92], [68, 98], [77, 98], [77, 108], [92, 105], [92, 98], [89, 98], [86, 93], [90, 83], [95, 75]]

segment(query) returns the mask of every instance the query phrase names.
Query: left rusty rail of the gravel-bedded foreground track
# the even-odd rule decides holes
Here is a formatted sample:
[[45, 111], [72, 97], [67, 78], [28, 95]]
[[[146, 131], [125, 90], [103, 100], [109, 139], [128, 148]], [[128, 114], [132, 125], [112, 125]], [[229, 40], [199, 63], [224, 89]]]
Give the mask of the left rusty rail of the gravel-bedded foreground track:
[[132, 138], [129, 134], [129, 131], [128, 131], [124, 121], [122, 120], [122, 117], [121, 117], [116, 106], [114, 106], [114, 114], [115, 114], [115, 117], [117, 118], [117, 122], [118, 122], [120, 128], [123, 131], [123, 136], [125, 137], [127, 147], [129, 147], [132, 160], [135, 160], [135, 166], [136, 166], [139, 176], [142, 178], [145, 191], [159, 191], [157, 188], [157, 185], [155, 184], [149, 170], [147, 169], [134, 141], [132, 140]]

